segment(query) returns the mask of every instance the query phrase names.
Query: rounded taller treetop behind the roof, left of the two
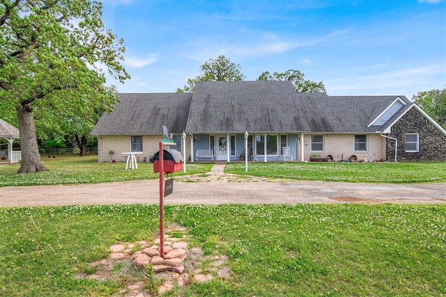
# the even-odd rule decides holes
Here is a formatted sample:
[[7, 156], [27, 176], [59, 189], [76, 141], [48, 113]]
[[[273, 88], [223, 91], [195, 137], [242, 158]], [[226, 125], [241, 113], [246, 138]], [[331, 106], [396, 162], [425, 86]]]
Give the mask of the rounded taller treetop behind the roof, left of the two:
[[240, 70], [240, 65], [233, 63], [225, 56], [209, 59], [200, 67], [201, 75], [194, 79], [187, 79], [187, 85], [183, 89], [178, 88], [177, 93], [193, 92], [197, 81], [243, 81], [245, 75]]

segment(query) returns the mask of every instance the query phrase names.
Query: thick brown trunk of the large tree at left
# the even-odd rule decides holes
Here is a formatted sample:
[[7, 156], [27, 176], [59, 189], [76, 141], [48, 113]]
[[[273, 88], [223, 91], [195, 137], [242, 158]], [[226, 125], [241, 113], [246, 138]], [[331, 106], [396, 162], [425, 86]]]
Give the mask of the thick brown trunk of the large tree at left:
[[22, 164], [17, 172], [25, 173], [47, 170], [43, 166], [42, 160], [40, 160], [31, 104], [21, 105], [17, 111], [17, 118], [19, 120], [20, 147], [22, 149]]

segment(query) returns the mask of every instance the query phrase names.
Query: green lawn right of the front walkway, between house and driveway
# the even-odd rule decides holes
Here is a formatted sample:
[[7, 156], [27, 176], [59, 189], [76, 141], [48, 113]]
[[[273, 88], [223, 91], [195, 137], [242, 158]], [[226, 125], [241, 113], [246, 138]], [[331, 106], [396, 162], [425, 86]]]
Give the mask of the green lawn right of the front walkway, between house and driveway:
[[417, 163], [228, 163], [227, 173], [327, 182], [446, 182], [446, 162]]

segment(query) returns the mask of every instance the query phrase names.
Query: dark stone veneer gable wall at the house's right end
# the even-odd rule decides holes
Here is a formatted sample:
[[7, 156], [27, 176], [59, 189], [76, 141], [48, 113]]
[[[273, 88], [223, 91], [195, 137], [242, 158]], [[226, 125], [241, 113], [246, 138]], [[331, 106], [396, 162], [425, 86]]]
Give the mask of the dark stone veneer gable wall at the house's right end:
[[[418, 152], [406, 152], [406, 133], [418, 133]], [[446, 161], [446, 135], [415, 107], [410, 109], [388, 134], [398, 139], [397, 161]], [[395, 158], [395, 141], [386, 139], [387, 161]]]

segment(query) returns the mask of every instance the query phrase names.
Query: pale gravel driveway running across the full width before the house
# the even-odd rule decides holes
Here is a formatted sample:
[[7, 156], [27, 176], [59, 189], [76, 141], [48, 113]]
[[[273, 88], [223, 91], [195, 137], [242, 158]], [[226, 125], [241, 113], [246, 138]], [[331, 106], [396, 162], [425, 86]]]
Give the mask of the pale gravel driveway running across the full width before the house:
[[[446, 183], [357, 184], [238, 177], [215, 164], [206, 177], [176, 177], [164, 204], [417, 203], [446, 204]], [[0, 207], [159, 203], [158, 179], [0, 188]]]

